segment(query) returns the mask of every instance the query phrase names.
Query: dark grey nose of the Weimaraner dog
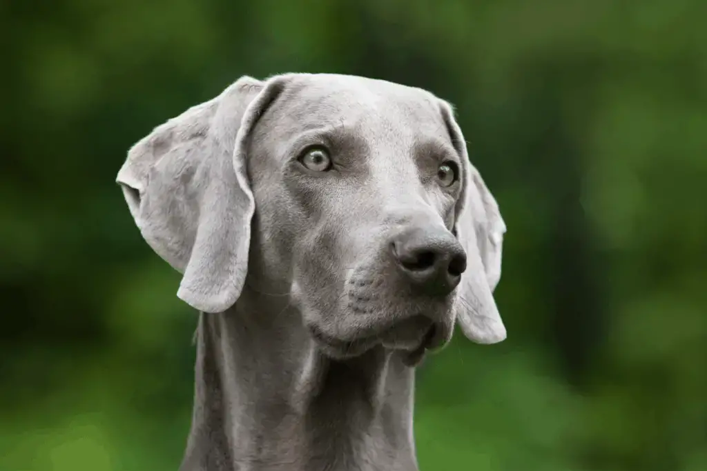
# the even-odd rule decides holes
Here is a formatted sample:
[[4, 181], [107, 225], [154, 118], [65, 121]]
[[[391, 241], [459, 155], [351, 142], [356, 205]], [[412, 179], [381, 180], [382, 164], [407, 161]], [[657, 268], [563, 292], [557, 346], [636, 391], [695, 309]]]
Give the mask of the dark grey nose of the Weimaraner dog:
[[391, 245], [399, 272], [425, 294], [450, 294], [467, 268], [464, 249], [447, 229], [410, 227]]

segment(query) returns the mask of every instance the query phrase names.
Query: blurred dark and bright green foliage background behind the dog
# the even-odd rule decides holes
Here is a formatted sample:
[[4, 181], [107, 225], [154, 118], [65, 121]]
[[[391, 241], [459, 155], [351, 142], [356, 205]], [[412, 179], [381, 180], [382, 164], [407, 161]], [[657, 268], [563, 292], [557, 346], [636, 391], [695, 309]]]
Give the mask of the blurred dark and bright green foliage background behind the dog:
[[509, 336], [419, 370], [422, 471], [707, 470], [707, 2], [4, 0], [0, 471], [176, 470], [197, 314], [115, 175], [243, 74], [450, 100]]

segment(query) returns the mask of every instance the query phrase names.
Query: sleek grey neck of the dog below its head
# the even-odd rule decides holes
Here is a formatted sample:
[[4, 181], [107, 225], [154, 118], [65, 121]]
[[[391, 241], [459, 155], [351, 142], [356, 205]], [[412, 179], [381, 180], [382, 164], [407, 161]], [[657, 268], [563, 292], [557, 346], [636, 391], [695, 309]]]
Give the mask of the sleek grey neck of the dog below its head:
[[[267, 306], [267, 307], [265, 307]], [[376, 347], [325, 357], [285, 297], [201, 314], [180, 471], [415, 471], [414, 369]]]

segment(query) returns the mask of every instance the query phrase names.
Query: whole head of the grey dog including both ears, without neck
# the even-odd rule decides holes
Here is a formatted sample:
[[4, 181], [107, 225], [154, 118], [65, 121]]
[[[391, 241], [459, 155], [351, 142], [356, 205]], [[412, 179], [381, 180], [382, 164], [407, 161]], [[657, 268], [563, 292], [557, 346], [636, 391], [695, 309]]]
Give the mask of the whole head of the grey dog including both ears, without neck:
[[182, 299], [228, 308], [250, 252], [333, 357], [378, 344], [419, 357], [457, 320], [474, 341], [505, 338], [491, 296], [505, 225], [446, 102], [291, 74], [197, 108], [201, 119], [192, 109], [156, 129], [122, 170], [144, 236], [185, 273]]

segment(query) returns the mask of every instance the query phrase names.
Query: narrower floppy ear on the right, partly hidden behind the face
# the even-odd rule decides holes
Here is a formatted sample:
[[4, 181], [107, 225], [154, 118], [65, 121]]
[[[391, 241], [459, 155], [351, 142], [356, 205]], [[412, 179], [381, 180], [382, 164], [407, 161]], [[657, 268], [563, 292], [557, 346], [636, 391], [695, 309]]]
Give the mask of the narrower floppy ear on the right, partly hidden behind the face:
[[492, 293], [501, 278], [506, 224], [481, 175], [469, 163], [467, 144], [452, 107], [443, 100], [441, 106], [452, 143], [462, 157], [462, 193], [455, 208], [455, 232], [467, 252], [467, 270], [457, 288], [457, 321], [469, 340], [501, 342], [506, 338], [506, 327]]

